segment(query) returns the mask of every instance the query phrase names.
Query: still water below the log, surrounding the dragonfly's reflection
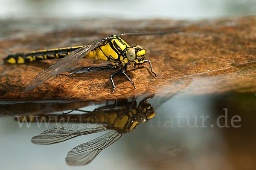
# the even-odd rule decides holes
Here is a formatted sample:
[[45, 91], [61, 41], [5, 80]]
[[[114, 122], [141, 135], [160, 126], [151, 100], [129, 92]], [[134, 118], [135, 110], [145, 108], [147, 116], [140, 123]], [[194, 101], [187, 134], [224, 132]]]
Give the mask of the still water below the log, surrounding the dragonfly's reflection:
[[[188, 86], [184, 91], [189, 91], [190, 88], [194, 87]], [[253, 135], [256, 95], [235, 92], [189, 95], [184, 91], [164, 96], [151, 95], [147, 102], [156, 108], [154, 117], [145, 124], [138, 124], [131, 132], [124, 133], [89, 164], [76, 168], [253, 169], [256, 166], [256, 138]], [[136, 99], [143, 101], [142, 97]], [[108, 101], [99, 106], [81, 109], [92, 111], [107, 105], [115, 106], [113, 108], [116, 111], [119, 109], [118, 105], [131, 107], [133, 100], [129, 99], [121, 104], [119, 101]], [[33, 101], [30, 102], [33, 104]], [[81, 106], [83, 101], [74, 101], [69, 107], [76, 107], [79, 102]], [[38, 101], [35, 104], [35, 108], [40, 108]], [[52, 112], [58, 105], [63, 108], [67, 103], [52, 101], [52, 105], [48, 102], [44, 108]], [[139, 102], [135, 105], [138, 106]], [[32, 122], [29, 127], [25, 123], [20, 127], [14, 118], [20, 114], [14, 110], [27, 107], [24, 108], [22, 103], [8, 104], [2, 101], [1, 112], [8, 108], [9, 115], [2, 114], [0, 118], [0, 159], [5, 160], [1, 163], [3, 169], [72, 169], [65, 162], [67, 153], [73, 147], [108, 132], [83, 135], [58, 144], [37, 145], [31, 142], [31, 138], [55, 127], [56, 124], [43, 123], [38, 127], [36, 122]], [[75, 113], [78, 111], [69, 114]], [[25, 115], [29, 114], [31, 115], [26, 112]]]

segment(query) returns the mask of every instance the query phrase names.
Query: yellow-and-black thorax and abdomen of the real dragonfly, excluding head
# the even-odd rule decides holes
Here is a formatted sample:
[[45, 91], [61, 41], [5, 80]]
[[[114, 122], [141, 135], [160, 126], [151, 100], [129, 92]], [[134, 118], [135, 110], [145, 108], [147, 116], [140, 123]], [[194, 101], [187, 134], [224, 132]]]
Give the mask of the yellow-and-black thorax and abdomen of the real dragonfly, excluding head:
[[[7, 63], [27, 63], [31, 61], [47, 60], [54, 58], [64, 58], [70, 52], [79, 49], [83, 46], [74, 46], [59, 49], [45, 49], [28, 53], [15, 53], [8, 55], [4, 60]], [[84, 58], [99, 59], [111, 61], [114, 65], [118, 63], [128, 63], [126, 51], [130, 46], [116, 35], [111, 36], [108, 40], [101, 43], [98, 47], [90, 51]]]

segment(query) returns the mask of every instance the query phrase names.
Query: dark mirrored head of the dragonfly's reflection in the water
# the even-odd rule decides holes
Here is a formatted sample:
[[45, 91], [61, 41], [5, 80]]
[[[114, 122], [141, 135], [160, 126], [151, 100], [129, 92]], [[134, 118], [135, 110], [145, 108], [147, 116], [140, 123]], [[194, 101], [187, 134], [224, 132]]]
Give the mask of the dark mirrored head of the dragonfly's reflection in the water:
[[135, 118], [140, 124], [144, 124], [148, 119], [155, 116], [153, 107], [151, 107], [151, 104], [148, 104], [147, 101], [140, 102], [138, 108], [139, 110], [137, 111]]

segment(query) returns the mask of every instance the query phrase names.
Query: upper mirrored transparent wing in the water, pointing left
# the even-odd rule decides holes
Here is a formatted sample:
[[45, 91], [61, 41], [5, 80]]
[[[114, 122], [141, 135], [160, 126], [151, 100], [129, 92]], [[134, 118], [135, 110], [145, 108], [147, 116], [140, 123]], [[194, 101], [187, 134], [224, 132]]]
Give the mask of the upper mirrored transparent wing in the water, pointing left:
[[34, 144], [55, 144], [75, 138], [80, 135], [87, 135], [107, 130], [105, 124], [95, 123], [63, 123], [58, 126], [46, 130], [41, 135], [34, 136], [32, 142]]

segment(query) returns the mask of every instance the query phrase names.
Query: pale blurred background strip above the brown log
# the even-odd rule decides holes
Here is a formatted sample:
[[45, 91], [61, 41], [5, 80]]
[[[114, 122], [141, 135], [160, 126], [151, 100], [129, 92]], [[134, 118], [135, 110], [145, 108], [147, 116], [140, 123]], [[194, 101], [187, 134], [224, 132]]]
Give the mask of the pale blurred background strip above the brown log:
[[1, 0], [0, 17], [197, 20], [256, 14], [255, 0]]

